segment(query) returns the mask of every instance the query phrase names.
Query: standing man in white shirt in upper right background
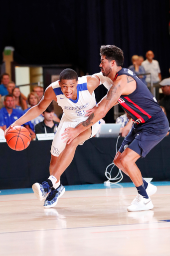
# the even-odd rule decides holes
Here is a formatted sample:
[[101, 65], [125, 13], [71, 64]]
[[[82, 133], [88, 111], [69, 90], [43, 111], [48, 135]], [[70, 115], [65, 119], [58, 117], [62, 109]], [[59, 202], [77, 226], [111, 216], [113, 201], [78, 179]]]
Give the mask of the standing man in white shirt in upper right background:
[[[147, 59], [142, 62], [142, 66], [145, 68], [146, 73], [152, 74], [153, 85], [156, 88], [156, 98], [157, 98], [157, 100], [159, 100], [159, 98], [160, 98], [159, 82], [162, 80], [160, 65], [157, 60], [153, 59], [154, 52], [152, 50], [147, 51], [146, 58]], [[149, 89], [151, 89], [150, 74], [147, 75], [146, 82], [147, 82], [147, 86], [149, 87]]]

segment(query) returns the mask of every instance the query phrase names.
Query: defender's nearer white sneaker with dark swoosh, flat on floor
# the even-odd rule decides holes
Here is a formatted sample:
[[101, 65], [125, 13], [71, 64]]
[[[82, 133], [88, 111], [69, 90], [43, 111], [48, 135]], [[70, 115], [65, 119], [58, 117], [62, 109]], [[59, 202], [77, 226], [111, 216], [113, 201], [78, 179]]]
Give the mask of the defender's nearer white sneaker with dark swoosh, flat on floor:
[[127, 207], [128, 211], [139, 211], [139, 210], [151, 210], [154, 205], [151, 198], [144, 198], [141, 194], [138, 194], [133, 203]]

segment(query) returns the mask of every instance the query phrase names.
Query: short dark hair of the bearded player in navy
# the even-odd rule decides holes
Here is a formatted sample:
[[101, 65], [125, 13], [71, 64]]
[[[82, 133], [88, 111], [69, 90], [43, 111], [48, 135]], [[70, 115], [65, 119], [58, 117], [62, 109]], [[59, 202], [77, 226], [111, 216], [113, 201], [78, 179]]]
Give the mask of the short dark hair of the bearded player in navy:
[[109, 61], [115, 60], [118, 66], [123, 66], [123, 51], [115, 45], [102, 45], [100, 47], [100, 55], [105, 55]]

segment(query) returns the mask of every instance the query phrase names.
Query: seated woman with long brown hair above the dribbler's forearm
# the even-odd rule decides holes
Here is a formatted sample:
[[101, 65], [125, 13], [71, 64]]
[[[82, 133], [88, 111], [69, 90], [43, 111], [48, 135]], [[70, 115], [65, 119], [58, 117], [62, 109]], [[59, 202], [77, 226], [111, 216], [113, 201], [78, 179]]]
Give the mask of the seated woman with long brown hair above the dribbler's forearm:
[[18, 87], [13, 88], [12, 95], [14, 97], [14, 108], [21, 110], [27, 109], [26, 100], [21, 96], [21, 92]]

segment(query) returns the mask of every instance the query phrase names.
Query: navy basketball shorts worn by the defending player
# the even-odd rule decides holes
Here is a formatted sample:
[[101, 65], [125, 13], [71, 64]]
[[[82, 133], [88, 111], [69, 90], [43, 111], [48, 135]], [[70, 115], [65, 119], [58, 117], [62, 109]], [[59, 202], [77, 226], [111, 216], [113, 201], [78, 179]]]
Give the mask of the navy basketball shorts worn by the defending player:
[[169, 121], [161, 111], [161, 113], [157, 113], [145, 123], [135, 123], [123, 140], [119, 151], [122, 153], [129, 147], [142, 157], [145, 157], [167, 135], [168, 131]]

